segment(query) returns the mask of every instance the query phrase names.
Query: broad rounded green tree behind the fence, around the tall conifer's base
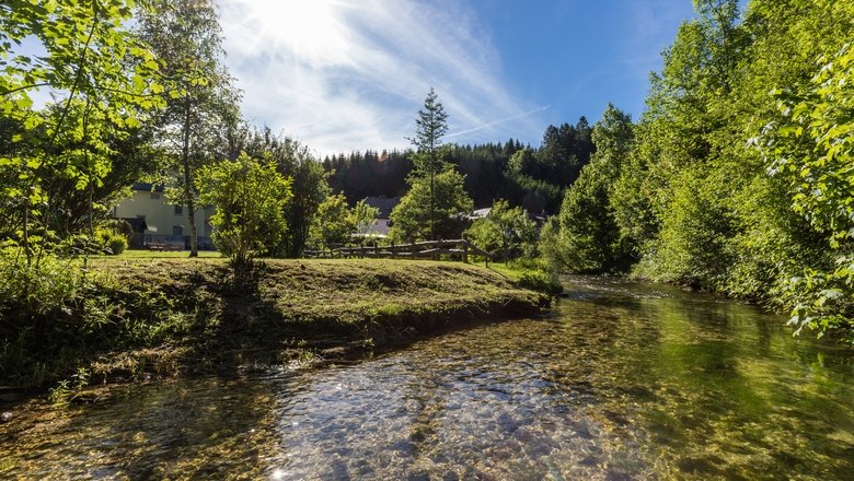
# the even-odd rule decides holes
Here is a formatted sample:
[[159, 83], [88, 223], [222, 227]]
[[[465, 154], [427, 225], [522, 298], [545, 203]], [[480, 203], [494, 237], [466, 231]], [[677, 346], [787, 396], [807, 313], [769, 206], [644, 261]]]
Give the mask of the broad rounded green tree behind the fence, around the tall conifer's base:
[[424, 177], [411, 181], [412, 188], [391, 213], [389, 235], [399, 242], [459, 237], [465, 227], [465, 215], [473, 209], [463, 176], [449, 169], [438, 173], [432, 183]]

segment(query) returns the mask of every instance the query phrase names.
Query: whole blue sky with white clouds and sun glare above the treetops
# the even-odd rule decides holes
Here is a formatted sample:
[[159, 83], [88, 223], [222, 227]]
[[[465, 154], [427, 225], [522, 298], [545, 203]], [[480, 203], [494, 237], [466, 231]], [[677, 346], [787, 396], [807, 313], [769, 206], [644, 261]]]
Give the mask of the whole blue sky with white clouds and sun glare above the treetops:
[[691, 0], [219, 0], [244, 117], [320, 157], [405, 149], [430, 87], [446, 142], [637, 119]]

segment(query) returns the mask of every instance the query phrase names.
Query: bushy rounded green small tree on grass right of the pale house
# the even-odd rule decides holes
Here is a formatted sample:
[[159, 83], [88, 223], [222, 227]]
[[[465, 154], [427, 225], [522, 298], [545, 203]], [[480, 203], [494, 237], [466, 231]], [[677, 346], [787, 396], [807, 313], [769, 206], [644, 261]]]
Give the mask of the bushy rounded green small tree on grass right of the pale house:
[[197, 176], [199, 202], [216, 209], [210, 216], [214, 244], [229, 256], [235, 272], [246, 273], [287, 230], [282, 204], [291, 198], [291, 180], [269, 159], [246, 154], [203, 166]]

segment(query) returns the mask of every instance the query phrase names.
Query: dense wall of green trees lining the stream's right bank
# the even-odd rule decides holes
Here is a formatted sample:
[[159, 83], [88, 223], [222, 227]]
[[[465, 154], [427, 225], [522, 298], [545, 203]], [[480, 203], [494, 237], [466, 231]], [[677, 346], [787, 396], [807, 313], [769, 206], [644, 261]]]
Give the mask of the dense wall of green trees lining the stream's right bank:
[[575, 271], [854, 317], [854, 2], [697, 0], [636, 125], [609, 109], [545, 250]]

